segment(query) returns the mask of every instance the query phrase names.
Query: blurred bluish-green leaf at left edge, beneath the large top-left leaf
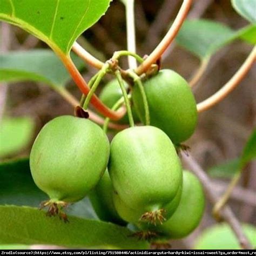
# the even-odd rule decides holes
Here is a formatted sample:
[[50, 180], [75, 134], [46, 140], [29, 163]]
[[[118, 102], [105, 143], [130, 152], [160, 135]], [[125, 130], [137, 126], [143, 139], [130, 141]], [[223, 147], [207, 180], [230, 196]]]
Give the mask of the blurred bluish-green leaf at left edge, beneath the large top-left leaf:
[[[74, 56], [80, 69], [83, 62]], [[51, 86], [64, 86], [70, 75], [51, 50], [12, 51], [0, 54], [0, 82], [33, 80]]]

